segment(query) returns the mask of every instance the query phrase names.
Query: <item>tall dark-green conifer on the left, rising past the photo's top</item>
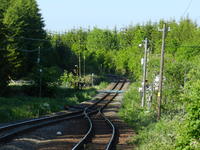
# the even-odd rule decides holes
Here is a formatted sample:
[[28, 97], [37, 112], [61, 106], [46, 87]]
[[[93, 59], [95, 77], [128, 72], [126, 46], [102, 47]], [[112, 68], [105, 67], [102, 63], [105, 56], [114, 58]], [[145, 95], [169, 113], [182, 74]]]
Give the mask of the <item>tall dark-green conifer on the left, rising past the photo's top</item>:
[[35, 50], [42, 46], [44, 23], [35, 0], [15, 0], [5, 12], [3, 20], [7, 34], [9, 62], [14, 76], [21, 77], [32, 71], [37, 62], [37, 53], [22, 50]]

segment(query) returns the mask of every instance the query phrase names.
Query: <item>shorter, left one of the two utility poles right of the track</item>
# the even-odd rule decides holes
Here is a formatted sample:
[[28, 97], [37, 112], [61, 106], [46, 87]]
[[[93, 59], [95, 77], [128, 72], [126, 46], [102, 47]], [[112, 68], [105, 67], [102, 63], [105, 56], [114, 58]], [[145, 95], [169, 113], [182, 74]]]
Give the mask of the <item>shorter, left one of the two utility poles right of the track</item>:
[[146, 99], [146, 78], [147, 78], [147, 48], [148, 48], [148, 39], [144, 40], [144, 59], [143, 59], [143, 81], [142, 81], [142, 107], [145, 105]]

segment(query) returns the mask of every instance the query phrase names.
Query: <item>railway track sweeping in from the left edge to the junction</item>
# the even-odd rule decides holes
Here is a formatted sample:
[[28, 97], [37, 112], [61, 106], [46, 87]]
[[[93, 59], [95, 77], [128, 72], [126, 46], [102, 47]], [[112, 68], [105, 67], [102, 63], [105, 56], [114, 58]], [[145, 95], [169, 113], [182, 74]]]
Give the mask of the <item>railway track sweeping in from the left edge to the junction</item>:
[[[112, 90], [116, 89], [116, 87], [118, 85], [119, 85], [119, 82], [117, 82], [113, 86]], [[15, 135], [25, 133], [26, 131], [32, 131], [35, 128], [40, 128], [40, 127], [43, 127], [43, 126], [47, 126], [47, 125], [50, 125], [50, 124], [53, 124], [53, 123], [58, 123], [58, 122], [66, 121], [66, 120], [82, 118], [84, 116], [85, 119], [87, 119], [87, 121], [90, 124], [90, 128], [89, 128], [90, 130], [88, 130], [88, 132], [87, 132], [88, 135], [84, 136], [84, 137], [87, 137], [86, 140], [83, 142], [84, 143], [83, 146], [85, 146], [85, 143], [88, 143], [88, 141], [89, 141], [88, 137], [92, 137], [93, 130], [94, 130], [93, 126], [91, 126], [91, 124], [93, 124], [93, 122], [92, 122], [90, 116], [92, 116], [92, 114], [101, 113], [103, 108], [108, 104], [108, 103], [103, 104], [103, 103], [105, 103], [103, 101], [105, 101], [109, 96], [110, 96], [110, 93], [106, 94], [103, 98], [97, 100], [92, 105], [83, 107], [83, 110], [76, 111], [76, 112], [73, 112], [73, 113], [64, 114], [64, 115], [57, 115], [57, 116], [53, 116], [53, 117], [44, 117], [44, 118], [39, 118], [39, 119], [32, 119], [32, 120], [28, 120], [28, 121], [24, 121], [24, 122], [0, 127], [0, 143], [1, 144], [6, 143], [9, 140], [11, 140], [12, 138], [14, 138]], [[110, 99], [110, 98], [108, 98], [108, 99]], [[106, 120], [106, 118], [104, 118], [104, 119]], [[107, 122], [110, 122], [110, 121], [107, 120]], [[82, 139], [84, 139], [84, 138], [82, 138]], [[83, 146], [80, 146], [80, 147], [83, 148]], [[74, 149], [80, 149], [80, 148], [78, 146], [78, 148], [74, 147]]]

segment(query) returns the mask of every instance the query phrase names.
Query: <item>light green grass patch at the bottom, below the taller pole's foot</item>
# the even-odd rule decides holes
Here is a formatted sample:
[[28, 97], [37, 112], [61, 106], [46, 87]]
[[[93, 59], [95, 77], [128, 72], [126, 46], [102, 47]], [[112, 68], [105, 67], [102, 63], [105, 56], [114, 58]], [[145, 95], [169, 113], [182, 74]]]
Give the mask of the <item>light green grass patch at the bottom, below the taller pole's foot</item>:
[[138, 131], [138, 134], [133, 137], [133, 143], [137, 144], [138, 150], [175, 150], [178, 120], [166, 118], [149, 124]]

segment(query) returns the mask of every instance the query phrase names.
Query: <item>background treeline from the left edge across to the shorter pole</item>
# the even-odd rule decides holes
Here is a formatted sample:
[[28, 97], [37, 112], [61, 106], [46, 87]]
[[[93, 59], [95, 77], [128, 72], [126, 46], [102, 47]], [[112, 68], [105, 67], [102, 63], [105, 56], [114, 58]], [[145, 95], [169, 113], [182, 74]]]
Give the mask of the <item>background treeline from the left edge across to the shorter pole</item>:
[[139, 42], [143, 39], [145, 33], [140, 33], [143, 27], [123, 31], [80, 28], [51, 34], [44, 30], [35, 0], [0, 0], [0, 3], [1, 94], [10, 80], [33, 80], [37, 87], [42, 76], [42, 86], [46, 87], [64, 70], [76, 74], [79, 64], [79, 73], [86, 74], [131, 74], [135, 72], [134, 65], [139, 67], [136, 64], [141, 50], [133, 40], [137, 36]]

